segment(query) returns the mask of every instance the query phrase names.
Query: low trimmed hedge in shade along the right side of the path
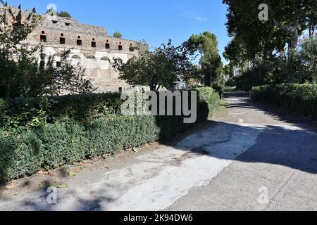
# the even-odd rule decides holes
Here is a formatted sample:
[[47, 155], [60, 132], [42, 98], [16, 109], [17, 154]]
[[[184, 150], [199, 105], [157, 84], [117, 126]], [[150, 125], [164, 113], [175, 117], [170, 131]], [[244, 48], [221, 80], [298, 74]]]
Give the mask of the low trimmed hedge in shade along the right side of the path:
[[317, 120], [317, 84], [280, 84], [257, 86], [251, 98], [285, 107], [294, 113]]

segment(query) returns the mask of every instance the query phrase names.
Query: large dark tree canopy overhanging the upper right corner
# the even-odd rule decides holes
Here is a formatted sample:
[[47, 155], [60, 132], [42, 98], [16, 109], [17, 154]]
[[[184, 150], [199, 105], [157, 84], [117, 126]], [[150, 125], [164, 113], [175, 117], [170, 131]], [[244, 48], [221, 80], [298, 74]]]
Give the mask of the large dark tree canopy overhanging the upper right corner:
[[[286, 44], [296, 48], [299, 35], [316, 23], [316, 0], [223, 0], [223, 3], [228, 5], [228, 33], [235, 44], [244, 41], [251, 59], [283, 51]], [[268, 6], [267, 21], [259, 20], [259, 6], [263, 3]]]

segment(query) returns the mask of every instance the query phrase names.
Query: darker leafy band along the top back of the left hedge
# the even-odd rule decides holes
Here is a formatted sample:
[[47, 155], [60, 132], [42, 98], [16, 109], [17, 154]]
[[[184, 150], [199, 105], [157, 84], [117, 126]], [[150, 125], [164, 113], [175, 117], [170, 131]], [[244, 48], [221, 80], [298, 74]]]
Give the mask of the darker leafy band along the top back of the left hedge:
[[0, 127], [6, 131], [30, 129], [69, 119], [84, 122], [88, 117], [120, 113], [120, 94], [82, 94], [38, 98], [0, 98]]

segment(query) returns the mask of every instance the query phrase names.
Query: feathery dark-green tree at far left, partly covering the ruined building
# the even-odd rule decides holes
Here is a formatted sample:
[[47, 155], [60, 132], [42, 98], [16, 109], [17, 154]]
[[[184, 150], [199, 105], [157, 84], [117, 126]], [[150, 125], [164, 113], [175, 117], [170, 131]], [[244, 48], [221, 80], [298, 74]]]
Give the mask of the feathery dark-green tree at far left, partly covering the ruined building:
[[[73, 67], [70, 51], [61, 55], [60, 66], [54, 56], [44, 55], [43, 46], [31, 47], [27, 36], [37, 27], [40, 16], [14, 10], [0, 0], [0, 97], [43, 96], [63, 93], [77, 94], [92, 91], [88, 80], [82, 79], [84, 70]], [[10, 21], [10, 22], [9, 22]], [[40, 59], [34, 57], [39, 51]]]

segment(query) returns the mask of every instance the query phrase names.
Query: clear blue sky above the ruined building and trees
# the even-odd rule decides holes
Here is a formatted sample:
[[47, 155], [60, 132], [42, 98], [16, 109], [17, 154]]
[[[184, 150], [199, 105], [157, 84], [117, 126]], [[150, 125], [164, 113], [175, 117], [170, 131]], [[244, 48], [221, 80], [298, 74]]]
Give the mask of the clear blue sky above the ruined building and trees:
[[208, 30], [217, 35], [222, 56], [230, 41], [225, 27], [226, 6], [221, 0], [8, 0], [8, 3], [22, 4], [24, 9], [35, 7], [38, 13], [45, 13], [49, 4], [55, 4], [58, 11], [68, 11], [80, 23], [106, 27], [110, 35], [118, 30], [126, 39], [145, 39], [150, 48], [169, 38], [173, 44], [181, 44], [192, 34]]

